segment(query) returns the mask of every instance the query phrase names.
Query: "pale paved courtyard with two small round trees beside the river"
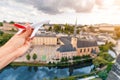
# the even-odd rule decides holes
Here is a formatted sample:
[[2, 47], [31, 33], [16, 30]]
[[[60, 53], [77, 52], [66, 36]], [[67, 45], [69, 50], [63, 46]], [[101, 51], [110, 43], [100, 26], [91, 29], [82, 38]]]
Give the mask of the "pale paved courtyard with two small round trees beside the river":
[[[37, 54], [36, 61], [52, 61], [52, 58], [58, 53], [57, 48], [59, 46], [34, 46], [31, 51], [28, 51], [24, 56], [17, 58], [14, 62], [30, 62], [33, 54]], [[30, 54], [31, 59], [28, 61], [26, 55]], [[43, 59], [44, 58], [44, 59]]]

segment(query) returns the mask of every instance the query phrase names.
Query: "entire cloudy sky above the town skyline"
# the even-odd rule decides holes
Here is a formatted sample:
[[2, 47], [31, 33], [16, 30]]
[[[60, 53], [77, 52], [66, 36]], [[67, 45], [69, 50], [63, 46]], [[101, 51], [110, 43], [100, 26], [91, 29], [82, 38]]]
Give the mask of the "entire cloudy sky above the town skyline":
[[120, 23], [120, 0], [0, 0], [0, 21]]

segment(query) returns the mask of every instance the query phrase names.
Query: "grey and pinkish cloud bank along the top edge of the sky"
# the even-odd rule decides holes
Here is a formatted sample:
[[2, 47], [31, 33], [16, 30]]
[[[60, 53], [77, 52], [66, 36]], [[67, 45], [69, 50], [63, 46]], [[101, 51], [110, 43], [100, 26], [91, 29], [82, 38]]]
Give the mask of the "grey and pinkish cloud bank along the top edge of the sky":
[[[114, 5], [120, 4], [120, 0], [15, 0], [18, 3], [29, 4], [45, 14], [60, 14], [66, 9], [74, 10], [77, 13], [90, 13], [97, 5], [97, 9], [106, 9], [110, 2]], [[119, 6], [120, 7], [120, 6]], [[110, 8], [108, 6], [108, 8]]]

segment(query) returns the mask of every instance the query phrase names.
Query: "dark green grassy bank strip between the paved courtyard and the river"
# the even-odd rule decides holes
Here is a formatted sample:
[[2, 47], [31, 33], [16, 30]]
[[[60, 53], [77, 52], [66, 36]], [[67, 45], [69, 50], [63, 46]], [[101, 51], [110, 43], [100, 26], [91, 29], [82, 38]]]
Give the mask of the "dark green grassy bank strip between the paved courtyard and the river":
[[9, 65], [10, 66], [37, 66], [37, 67], [69, 67], [69, 66], [77, 66], [82, 64], [92, 64], [92, 58], [89, 59], [81, 59], [81, 60], [75, 60], [73, 63], [70, 62], [58, 62], [58, 63], [40, 63], [40, 62], [12, 62]]

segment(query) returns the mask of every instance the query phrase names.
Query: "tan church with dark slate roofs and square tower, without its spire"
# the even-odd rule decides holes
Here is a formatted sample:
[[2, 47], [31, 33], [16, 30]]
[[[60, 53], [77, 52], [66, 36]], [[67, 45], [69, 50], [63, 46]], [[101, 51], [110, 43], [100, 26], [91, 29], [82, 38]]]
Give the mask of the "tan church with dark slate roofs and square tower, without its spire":
[[60, 57], [62, 55], [63, 57], [65, 55], [66, 57], [83, 55], [95, 57], [99, 52], [96, 41], [81, 40], [76, 37], [61, 37], [60, 41], [62, 42], [62, 46], [58, 49], [60, 51]]

